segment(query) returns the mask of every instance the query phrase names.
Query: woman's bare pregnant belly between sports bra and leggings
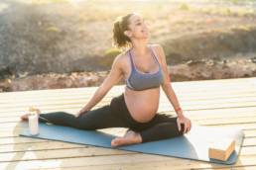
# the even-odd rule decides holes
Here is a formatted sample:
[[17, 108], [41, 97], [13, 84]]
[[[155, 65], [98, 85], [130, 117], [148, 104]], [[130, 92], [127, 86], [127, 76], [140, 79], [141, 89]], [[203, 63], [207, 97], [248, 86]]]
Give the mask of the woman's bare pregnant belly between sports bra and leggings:
[[131, 117], [139, 123], [147, 123], [154, 118], [159, 107], [160, 90], [126, 90], [124, 99]]

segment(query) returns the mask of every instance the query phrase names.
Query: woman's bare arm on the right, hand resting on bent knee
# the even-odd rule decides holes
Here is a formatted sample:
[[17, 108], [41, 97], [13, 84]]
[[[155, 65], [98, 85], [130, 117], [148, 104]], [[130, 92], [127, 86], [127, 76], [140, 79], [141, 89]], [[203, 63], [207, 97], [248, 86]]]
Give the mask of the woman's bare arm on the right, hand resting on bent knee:
[[[183, 110], [182, 110], [182, 108], [179, 104], [178, 98], [177, 98], [177, 96], [175, 94], [175, 91], [172, 87], [171, 79], [170, 79], [169, 71], [168, 71], [168, 67], [167, 67], [165, 51], [164, 51], [163, 47], [160, 44], [157, 44], [155, 46], [156, 46], [155, 48], [158, 52], [158, 56], [160, 58], [161, 65], [162, 65], [162, 68], [163, 68], [163, 73], [164, 73], [164, 81], [161, 85], [162, 89], [164, 90], [164, 92], [167, 95], [169, 101], [173, 105], [173, 107], [174, 107], [174, 109], [175, 109], [175, 111], [178, 115], [178, 118], [179, 118], [178, 121], [180, 122], [180, 124], [185, 124], [185, 132], [188, 132], [192, 127], [192, 123], [191, 123], [191, 120], [186, 118], [186, 116], [184, 115], [184, 112], [183, 112]], [[181, 129], [180, 124], [178, 124], [179, 129]]]

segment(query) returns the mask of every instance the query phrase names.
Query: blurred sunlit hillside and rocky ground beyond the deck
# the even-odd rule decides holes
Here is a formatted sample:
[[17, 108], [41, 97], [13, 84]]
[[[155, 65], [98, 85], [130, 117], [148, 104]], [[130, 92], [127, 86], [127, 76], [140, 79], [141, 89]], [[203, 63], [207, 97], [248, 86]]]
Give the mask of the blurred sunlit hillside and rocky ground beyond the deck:
[[121, 52], [113, 22], [130, 12], [172, 82], [256, 76], [255, 0], [1, 0], [0, 92], [100, 85]]

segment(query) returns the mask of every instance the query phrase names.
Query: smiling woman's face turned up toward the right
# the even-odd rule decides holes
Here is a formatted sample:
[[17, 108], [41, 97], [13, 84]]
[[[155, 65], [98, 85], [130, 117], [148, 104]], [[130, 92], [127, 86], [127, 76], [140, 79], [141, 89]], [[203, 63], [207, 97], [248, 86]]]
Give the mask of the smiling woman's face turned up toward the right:
[[148, 27], [143, 19], [143, 17], [139, 14], [134, 14], [129, 18], [129, 28], [130, 30], [127, 32], [130, 39], [149, 39], [150, 34]]

